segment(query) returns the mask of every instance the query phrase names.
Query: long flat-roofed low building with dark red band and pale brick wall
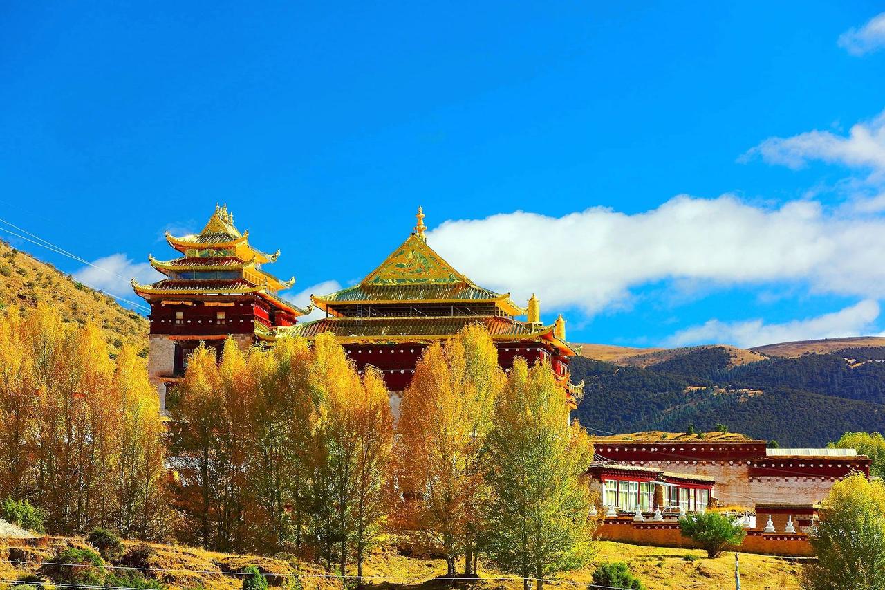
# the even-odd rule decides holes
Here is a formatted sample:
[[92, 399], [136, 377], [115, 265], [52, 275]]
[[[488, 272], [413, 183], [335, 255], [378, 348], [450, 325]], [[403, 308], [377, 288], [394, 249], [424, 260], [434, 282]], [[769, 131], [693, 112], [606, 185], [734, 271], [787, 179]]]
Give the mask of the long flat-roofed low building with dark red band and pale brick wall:
[[740, 434], [637, 432], [599, 437], [596, 460], [631, 468], [712, 477], [720, 506], [814, 504], [854, 471], [870, 473], [870, 459], [854, 449], [767, 448]]

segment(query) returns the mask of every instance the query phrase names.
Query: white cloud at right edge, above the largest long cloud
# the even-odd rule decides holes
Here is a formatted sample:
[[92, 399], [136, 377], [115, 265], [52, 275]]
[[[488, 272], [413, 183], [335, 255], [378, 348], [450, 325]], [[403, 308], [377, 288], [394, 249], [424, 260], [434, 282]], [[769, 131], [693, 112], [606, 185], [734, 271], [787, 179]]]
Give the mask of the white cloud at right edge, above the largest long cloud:
[[867, 123], [851, 127], [848, 136], [817, 129], [792, 137], [769, 137], [747, 151], [746, 161], [759, 156], [769, 164], [793, 169], [804, 167], [809, 161], [820, 160], [847, 167], [869, 168], [885, 172], [885, 112]]

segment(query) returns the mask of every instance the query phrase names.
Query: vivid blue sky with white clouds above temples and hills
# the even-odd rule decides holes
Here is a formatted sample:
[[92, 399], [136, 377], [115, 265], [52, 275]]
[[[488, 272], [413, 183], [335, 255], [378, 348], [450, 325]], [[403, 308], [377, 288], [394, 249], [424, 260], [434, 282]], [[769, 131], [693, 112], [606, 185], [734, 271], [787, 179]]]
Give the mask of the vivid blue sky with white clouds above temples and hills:
[[0, 218], [147, 278], [164, 229], [227, 202], [303, 300], [365, 276], [422, 205], [431, 245], [578, 342], [875, 334], [881, 12], [4, 3]]

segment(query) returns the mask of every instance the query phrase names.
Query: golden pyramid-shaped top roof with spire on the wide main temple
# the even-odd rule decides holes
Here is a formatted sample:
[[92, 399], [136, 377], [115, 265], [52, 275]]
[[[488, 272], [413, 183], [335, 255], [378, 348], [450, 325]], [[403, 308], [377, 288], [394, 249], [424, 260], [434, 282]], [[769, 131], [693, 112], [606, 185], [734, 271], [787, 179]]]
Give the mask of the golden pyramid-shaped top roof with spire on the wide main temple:
[[314, 305], [334, 313], [335, 304], [489, 301], [506, 314], [526, 314], [526, 309], [513, 303], [510, 293], [496, 293], [473, 283], [427, 245], [422, 220], [419, 210], [416, 232], [358, 285], [324, 296], [312, 295]]

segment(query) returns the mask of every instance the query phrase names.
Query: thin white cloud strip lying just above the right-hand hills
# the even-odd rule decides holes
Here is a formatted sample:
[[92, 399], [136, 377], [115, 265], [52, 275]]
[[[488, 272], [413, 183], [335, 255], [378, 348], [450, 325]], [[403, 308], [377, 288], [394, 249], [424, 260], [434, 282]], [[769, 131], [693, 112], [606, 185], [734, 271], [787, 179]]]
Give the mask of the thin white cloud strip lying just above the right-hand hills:
[[832, 314], [785, 323], [765, 323], [762, 320], [720, 322], [709, 320], [702, 325], [679, 330], [666, 345], [734, 344], [743, 347], [790, 342], [859, 336], [869, 333], [879, 317], [879, 304], [865, 299], [851, 307]]

